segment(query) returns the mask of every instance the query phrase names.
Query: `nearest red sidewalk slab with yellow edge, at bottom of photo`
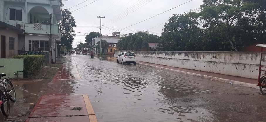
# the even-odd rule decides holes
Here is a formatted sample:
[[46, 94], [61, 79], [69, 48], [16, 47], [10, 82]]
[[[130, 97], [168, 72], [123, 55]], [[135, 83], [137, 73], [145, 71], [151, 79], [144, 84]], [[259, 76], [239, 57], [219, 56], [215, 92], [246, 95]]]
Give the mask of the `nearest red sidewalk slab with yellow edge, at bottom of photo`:
[[97, 122], [87, 95], [41, 96], [26, 122]]

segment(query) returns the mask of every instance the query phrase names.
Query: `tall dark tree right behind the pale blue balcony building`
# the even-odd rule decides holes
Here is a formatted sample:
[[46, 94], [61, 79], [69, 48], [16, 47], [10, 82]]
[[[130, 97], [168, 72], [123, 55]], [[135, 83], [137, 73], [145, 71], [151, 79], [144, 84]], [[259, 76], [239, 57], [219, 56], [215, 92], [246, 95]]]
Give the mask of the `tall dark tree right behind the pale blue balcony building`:
[[62, 10], [62, 20], [58, 22], [61, 30], [61, 44], [67, 46], [67, 50], [72, 49], [72, 42], [76, 36], [74, 27], [76, 20], [67, 9]]

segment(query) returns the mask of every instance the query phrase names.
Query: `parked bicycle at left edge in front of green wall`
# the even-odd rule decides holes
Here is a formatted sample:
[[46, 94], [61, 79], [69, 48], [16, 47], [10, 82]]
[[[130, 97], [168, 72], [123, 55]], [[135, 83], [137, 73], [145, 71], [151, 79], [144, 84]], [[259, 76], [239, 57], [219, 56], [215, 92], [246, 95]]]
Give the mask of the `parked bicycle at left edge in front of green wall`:
[[[5, 66], [0, 66], [3, 68]], [[8, 79], [1, 79], [1, 77], [6, 76], [6, 74], [0, 74], [0, 101], [2, 104], [0, 105], [1, 111], [5, 116], [8, 116], [10, 113], [10, 103], [9, 100], [12, 102], [16, 101], [16, 91], [12, 82]], [[1, 102], [0, 102], [1, 103]]]

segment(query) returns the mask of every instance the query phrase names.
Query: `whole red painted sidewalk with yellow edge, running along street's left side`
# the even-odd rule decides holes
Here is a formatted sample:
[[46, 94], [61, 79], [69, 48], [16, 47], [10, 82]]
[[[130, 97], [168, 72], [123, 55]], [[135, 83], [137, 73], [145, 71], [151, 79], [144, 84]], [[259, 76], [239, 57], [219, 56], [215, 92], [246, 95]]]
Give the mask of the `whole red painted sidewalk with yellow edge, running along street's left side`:
[[74, 59], [67, 57], [65, 60], [51, 82], [54, 89], [39, 98], [26, 122], [97, 122], [89, 96], [58, 95], [64, 82], [80, 79]]

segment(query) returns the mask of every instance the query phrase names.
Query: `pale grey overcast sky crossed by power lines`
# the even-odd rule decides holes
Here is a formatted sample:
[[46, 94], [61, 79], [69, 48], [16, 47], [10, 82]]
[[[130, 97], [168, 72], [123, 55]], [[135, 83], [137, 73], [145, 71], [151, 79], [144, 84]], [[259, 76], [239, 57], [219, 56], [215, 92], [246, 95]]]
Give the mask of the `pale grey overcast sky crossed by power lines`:
[[[65, 5], [62, 9], [70, 8], [69, 10], [73, 11], [72, 15], [77, 22], [75, 31], [82, 32], [76, 33], [77, 36], [73, 41], [74, 48], [77, 42], [80, 41], [79, 39], [82, 39], [82, 43], [85, 42], [84, 33], [90, 33], [92, 31], [100, 32], [100, 29], [97, 28], [100, 27], [100, 18], [97, 18], [97, 16], [105, 17], [102, 18], [102, 35], [111, 35], [112, 32], [116, 31], [124, 34], [148, 30], [150, 33], [160, 36], [164, 25], [162, 23], [167, 22], [169, 17], [176, 13], [182, 14], [184, 12], [189, 12], [202, 4], [202, 0], [193, 0], [174, 8], [187, 1], [190, 0], [62, 0]], [[79, 3], [81, 4], [78, 5]], [[174, 9], [123, 29], [171, 8]]]

